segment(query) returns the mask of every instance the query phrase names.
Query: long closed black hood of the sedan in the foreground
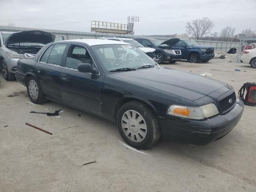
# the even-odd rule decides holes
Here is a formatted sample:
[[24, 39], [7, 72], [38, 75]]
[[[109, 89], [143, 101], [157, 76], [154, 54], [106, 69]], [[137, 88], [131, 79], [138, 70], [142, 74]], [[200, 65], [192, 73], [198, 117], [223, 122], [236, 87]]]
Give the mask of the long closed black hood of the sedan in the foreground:
[[128, 72], [116, 72], [112, 76], [156, 88], [194, 101], [202, 98], [227, 84], [179, 70], [154, 67]]

